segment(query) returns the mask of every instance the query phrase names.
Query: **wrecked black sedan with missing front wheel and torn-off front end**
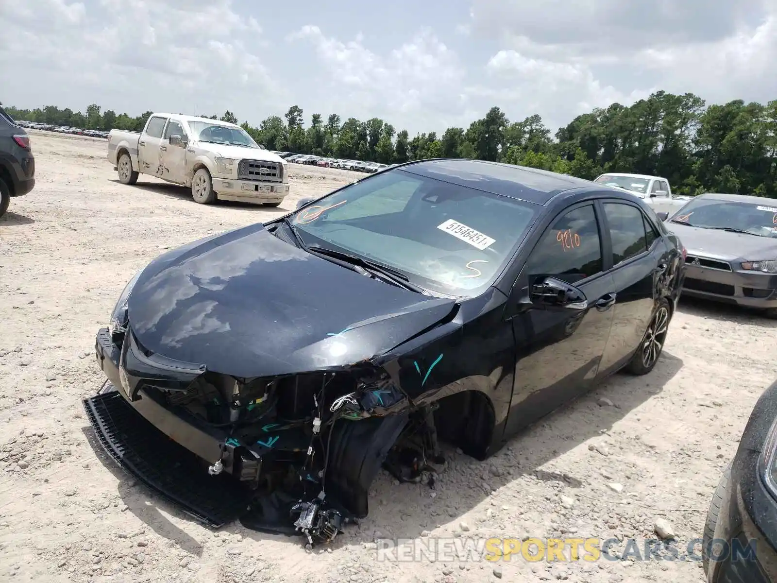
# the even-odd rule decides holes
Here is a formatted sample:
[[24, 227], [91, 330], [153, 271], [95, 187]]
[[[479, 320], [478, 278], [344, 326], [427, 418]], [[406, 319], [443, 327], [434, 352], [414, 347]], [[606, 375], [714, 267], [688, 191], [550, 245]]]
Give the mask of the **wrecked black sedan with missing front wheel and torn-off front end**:
[[84, 401], [124, 468], [209, 525], [330, 540], [381, 467], [434, 487], [656, 365], [685, 249], [643, 201], [465, 159], [385, 169], [153, 260]]

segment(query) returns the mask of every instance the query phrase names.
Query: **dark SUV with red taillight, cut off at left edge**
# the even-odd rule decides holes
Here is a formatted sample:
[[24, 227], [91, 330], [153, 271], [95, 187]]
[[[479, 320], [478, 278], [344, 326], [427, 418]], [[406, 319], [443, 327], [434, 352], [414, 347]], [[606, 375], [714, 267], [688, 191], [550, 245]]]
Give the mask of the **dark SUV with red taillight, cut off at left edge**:
[[35, 186], [35, 159], [30, 136], [0, 107], [0, 217], [11, 197], [20, 197]]

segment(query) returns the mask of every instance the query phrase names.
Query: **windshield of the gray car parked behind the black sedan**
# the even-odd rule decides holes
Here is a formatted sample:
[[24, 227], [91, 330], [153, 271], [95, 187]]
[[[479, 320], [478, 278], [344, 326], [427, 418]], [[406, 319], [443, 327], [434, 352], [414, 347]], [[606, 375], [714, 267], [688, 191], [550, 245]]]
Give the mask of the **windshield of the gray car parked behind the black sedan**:
[[777, 201], [770, 203], [768, 198], [763, 204], [697, 198], [681, 208], [671, 222], [702, 229], [733, 229], [777, 239]]

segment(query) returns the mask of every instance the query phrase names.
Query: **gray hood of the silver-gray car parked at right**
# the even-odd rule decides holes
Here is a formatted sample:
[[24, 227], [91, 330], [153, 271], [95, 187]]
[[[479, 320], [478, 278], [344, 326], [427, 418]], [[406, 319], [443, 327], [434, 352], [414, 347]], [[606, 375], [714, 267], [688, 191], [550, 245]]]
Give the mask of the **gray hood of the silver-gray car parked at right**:
[[702, 255], [726, 261], [777, 259], [777, 239], [702, 229], [671, 221], [664, 222], [664, 225], [680, 238], [689, 255]]

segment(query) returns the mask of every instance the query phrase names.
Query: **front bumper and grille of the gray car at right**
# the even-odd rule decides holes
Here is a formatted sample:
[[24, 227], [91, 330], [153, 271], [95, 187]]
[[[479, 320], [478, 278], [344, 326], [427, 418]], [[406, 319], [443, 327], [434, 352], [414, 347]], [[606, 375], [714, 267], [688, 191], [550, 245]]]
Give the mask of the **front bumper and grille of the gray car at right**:
[[751, 308], [777, 308], [777, 274], [723, 271], [685, 264], [682, 295]]

